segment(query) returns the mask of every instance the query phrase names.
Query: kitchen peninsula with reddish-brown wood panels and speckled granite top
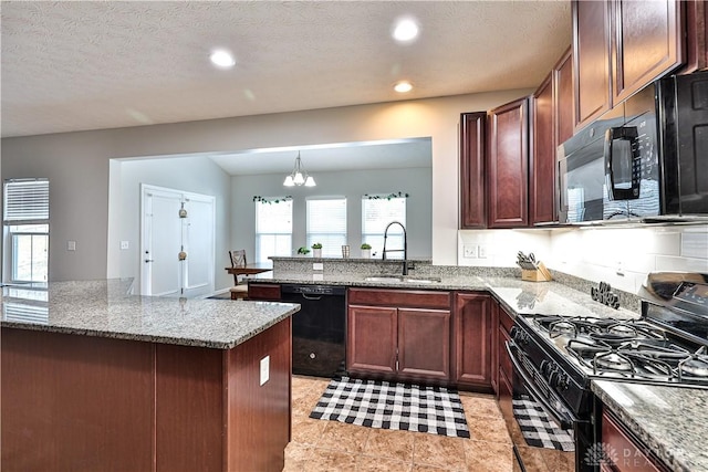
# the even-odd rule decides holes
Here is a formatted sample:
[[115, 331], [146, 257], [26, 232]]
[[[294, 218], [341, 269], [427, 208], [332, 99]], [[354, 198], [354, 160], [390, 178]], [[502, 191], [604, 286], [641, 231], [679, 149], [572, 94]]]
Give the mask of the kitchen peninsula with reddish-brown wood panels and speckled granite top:
[[2, 293], [2, 469], [281, 470], [298, 305]]

